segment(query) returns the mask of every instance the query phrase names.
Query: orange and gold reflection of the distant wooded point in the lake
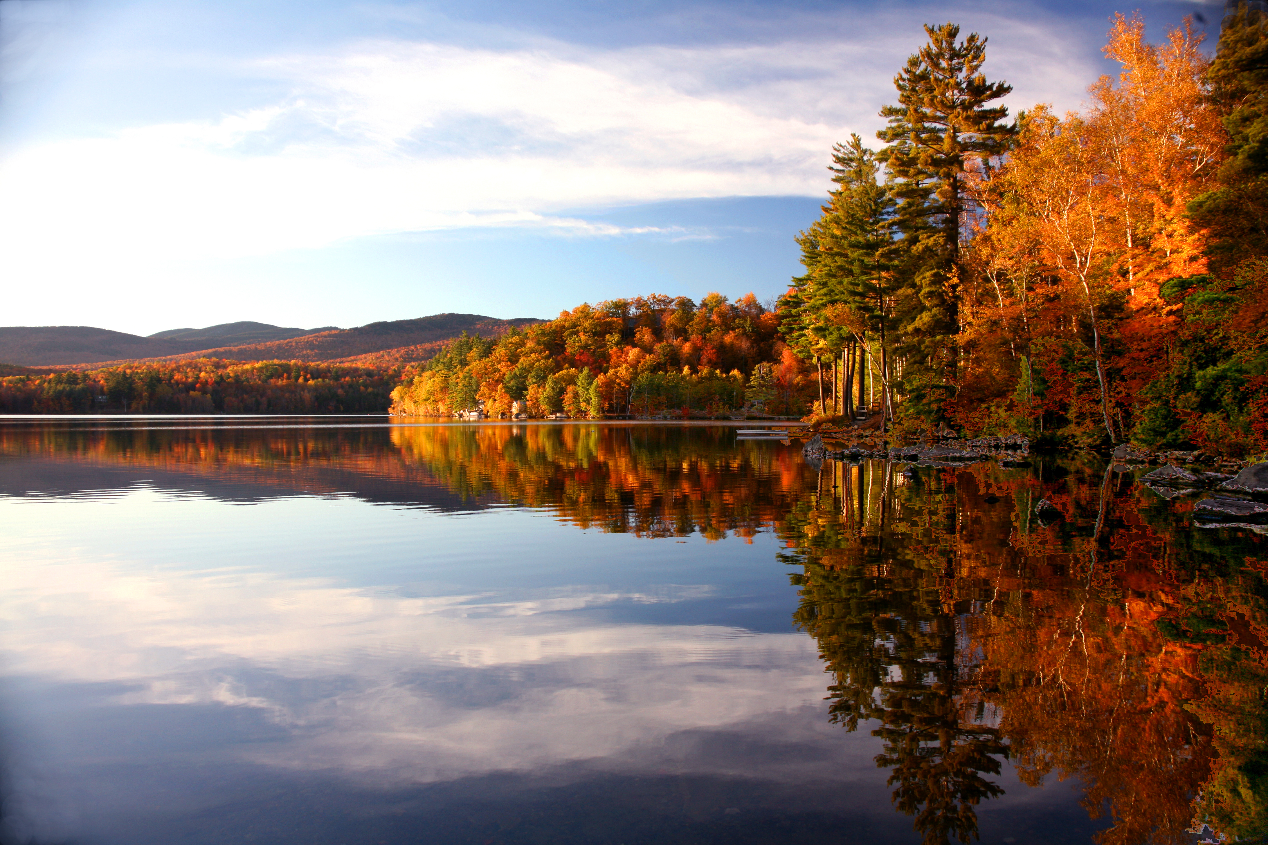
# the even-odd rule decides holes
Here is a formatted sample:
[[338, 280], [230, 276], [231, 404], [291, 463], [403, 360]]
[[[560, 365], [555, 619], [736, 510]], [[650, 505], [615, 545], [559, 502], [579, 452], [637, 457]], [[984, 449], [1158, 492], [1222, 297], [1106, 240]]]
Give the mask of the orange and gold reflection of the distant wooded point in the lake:
[[392, 442], [454, 492], [548, 507], [577, 527], [753, 537], [804, 489], [789, 450], [730, 429], [624, 426], [394, 428]]

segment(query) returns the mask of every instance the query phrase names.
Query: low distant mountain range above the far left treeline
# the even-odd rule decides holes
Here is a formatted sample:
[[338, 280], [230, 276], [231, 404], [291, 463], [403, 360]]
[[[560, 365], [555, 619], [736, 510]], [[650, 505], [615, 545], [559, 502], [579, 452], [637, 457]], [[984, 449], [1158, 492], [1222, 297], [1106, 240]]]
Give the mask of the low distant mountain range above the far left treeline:
[[217, 357], [232, 361], [333, 361], [408, 364], [425, 361], [462, 332], [486, 337], [535, 318], [432, 314], [356, 328], [284, 328], [242, 321], [207, 328], [174, 328], [148, 337], [90, 326], [0, 327], [0, 361], [20, 366], [110, 365]]

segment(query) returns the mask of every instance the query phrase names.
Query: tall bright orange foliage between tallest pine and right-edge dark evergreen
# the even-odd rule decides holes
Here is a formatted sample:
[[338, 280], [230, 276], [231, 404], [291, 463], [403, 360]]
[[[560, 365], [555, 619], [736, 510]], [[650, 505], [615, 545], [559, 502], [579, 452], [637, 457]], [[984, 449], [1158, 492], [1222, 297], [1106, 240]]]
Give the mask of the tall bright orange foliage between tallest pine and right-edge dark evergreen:
[[[1050, 417], [1068, 409], [1055, 422], [1077, 438], [1131, 433], [1136, 393], [1173, 336], [1161, 286], [1206, 267], [1206, 232], [1186, 205], [1211, 185], [1225, 134], [1201, 43], [1188, 20], [1156, 46], [1139, 15], [1116, 16], [1104, 52], [1122, 70], [1090, 86], [1085, 113], [1036, 108], [1008, 161], [976, 170], [976, 277], [961, 340], [970, 347], [965, 383], [979, 395], [957, 403], [962, 424], [980, 426], [990, 402], [1011, 405], [1014, 424], [1025, 418], [1018, 398], [1033, 395], [1038, 370], [1040, 390], [1061, 394], [1047, 397]], [[989, 348], [998, 329], [1007, 360], [998, 343]], [[974, 362], [979, 374], [1007, 378], [975, 383]]]

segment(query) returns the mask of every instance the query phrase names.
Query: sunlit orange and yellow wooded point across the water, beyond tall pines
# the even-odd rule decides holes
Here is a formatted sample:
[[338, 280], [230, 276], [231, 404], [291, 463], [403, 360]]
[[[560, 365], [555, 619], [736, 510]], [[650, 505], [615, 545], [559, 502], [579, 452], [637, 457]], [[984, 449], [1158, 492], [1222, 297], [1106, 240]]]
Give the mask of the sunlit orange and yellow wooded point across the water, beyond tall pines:
[[780, 317], [748, 294], [700, 303], [658, 294], [579, 305], [501, 338], [453, 341], [393, 391], [406, 414], [483, 405], [531, 417], [701, 416], [735, 409], [803, 414], [805, 362], [779, 334]]

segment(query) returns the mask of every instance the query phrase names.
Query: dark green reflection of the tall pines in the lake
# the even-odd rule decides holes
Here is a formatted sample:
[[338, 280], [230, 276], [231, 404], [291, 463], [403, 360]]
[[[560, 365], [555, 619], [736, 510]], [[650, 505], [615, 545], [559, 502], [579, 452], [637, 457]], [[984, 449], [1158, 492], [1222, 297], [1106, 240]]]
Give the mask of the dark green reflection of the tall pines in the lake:
[[[936, 584], [954, 522], [940, 518], [945, 497], [926, 490], [914, 507], [914, 492], [886, 495], [885, 480], [856, 475], [856, 486], [848, 476], [839, 486], [839, 509], [834, 498], [831, 509], [808, 503], [785, 523], [801, 533], [784, 556], [803, 566], [792, 575], [801, 588], [794, 618], [832, 673], [829, 718], [851, 731], [860, 720], [880, 722], [872, 734], [885, 750], [876, 764], [891, 769], [895, 807], [915, 816], [928, 845], [967, 842], [978, 831], [974, 806], [1003, 794], [987, 775], [999, 774], [1007, 747], [994, 727], [965, 713], [976, 701], [973, 666], [961, 665], [956, 617]], [[856, 488], [869, 503], [872, 493], [890, 499], [866, 509], [871, 524], [855, 505]]]

